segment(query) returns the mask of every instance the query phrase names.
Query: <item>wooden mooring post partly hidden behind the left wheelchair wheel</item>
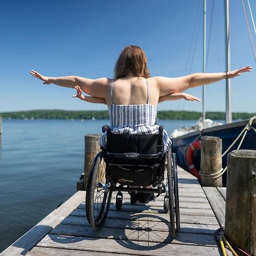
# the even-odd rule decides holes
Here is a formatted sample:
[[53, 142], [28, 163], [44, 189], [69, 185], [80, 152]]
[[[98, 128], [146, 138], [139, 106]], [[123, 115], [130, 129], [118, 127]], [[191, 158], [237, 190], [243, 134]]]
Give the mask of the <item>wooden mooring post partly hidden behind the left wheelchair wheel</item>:
[[90, 167], [94, 157], [101, 151], [100, 138], [98, 134], [85, 135], [85, 158], [84, 158], [84, 188], [86, 190]]

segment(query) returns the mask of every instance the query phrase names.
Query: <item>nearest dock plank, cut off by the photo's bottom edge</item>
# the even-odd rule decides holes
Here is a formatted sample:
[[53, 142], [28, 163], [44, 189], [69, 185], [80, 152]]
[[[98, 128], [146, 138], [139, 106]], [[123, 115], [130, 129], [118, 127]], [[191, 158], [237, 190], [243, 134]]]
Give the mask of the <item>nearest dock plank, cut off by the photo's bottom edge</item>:
[[[68, 250], [68, 249], [59, 249], [52, 247], [34, 247], [27, 256], [98, 256], [97, 251], [84, 251], [84, 250]], [[104, 256], [128, 256], [129, 254], [115, 254], [115, 253], [104, 253]]]

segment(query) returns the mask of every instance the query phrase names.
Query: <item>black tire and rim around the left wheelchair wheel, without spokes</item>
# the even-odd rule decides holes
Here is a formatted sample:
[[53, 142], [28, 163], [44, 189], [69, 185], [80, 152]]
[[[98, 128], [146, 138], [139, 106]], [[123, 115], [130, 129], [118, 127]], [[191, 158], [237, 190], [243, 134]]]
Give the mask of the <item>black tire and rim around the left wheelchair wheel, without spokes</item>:
[[[99, 230], [106, 220], [106, 217], [109, 212], [109, 207], [112, 198], [112, 191], [106, 189], [105, 192], [102, 192], [103, 199], [100, 203], [97, 202], [97, 213], [95, 201], [97, 200], [97, 194], [95, 195], [95, 191], [97, 189], [97, 177], [98, 172], [101, 167], [101, 162], [104, 161], [102, 152], [99, 152], [93, 160], [92, 167], [90, 168], [90, 173], [88, 177], [88, 183], [86, 188], [86, 198], [85, 198], [85, 210], [86, 217], [89, 224], [92, 226], [94, 230]], [[98, 193], [98, 192], [97, 192]], [[102, 195], [101, 193], [101, 195]], [[100, 210], [98, 210], [98, 206], [100, 205]], [[96, 216], [95, 216], [96, 215]]]

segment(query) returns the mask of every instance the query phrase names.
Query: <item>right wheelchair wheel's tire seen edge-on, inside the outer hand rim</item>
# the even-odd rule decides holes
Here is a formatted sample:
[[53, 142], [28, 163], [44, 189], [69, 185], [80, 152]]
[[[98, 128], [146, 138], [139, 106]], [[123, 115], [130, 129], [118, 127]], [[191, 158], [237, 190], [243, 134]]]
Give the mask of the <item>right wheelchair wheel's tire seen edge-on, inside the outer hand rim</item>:
[[167, 152], [167, 190], [168, 190], [168, 202], [169, 202], [169, 214], [171, 225], [171, 236], [175, 237], [175, 211], [174, 211], [174, 186], [173, 186], [173, 173], [171, 163], [171, 150]]

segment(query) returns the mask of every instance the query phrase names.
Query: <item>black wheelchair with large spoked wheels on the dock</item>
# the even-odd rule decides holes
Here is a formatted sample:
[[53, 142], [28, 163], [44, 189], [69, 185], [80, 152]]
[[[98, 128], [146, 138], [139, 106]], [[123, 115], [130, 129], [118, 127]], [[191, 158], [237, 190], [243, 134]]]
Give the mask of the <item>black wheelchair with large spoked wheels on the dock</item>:
[[171, 148], [164, 152], [163, 126], [159, 127], [159, 134], [148, 135], [113, 134], [108, 125], [102, 127], [105, 131], [106, 148], [101, 147], [94, 158], [86, 188], [89, 224], [94, 230], [101, 229], [113, 192], [117, 192], [118, 210], [122, 208], [122, 192], [151, 193], [153, 201], [164, 194], [164, 213], [170, 214], [170, 233], [175, 237], [180, 230], [177, 163]]

